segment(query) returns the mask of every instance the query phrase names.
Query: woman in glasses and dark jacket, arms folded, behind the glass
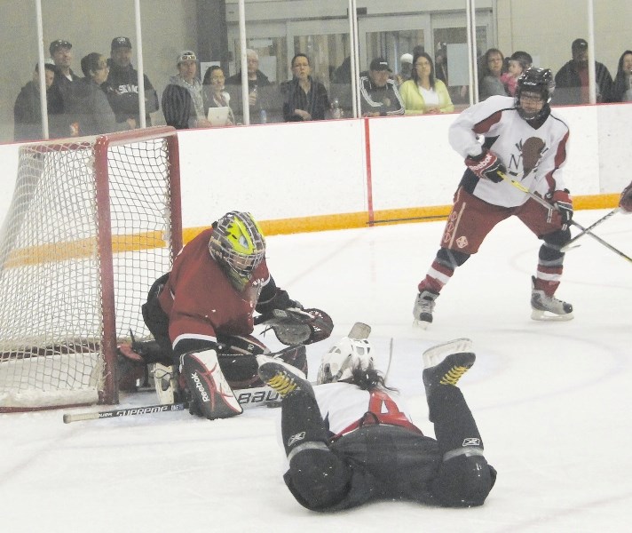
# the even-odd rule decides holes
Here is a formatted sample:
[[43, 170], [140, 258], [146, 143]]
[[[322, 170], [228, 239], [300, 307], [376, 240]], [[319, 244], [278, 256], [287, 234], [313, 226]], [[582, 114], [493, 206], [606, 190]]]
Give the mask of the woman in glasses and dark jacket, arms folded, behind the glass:
[[284, 120], [324, 120], [329, 109], [327, 89], [312, 78], [309, 58], [304, 53], [297, 53], [291, 65], [294, 77], [281, 87]]

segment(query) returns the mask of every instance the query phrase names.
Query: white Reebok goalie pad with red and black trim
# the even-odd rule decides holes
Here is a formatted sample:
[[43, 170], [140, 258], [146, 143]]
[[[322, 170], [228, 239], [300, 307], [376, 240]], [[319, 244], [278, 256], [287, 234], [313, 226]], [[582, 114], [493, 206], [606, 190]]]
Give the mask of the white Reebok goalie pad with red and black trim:
[[214, 420], [243, 412], [219, 368], [215, 350], [181, 355], [180, 372], [203, 417]]

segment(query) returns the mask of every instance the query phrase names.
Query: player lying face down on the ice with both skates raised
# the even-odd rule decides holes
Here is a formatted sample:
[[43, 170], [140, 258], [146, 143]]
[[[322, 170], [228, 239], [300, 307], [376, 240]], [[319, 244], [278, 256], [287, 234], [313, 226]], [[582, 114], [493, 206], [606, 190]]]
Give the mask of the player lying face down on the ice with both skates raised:
[[259, 376], [282, 397], [284, 480], [298, 503], [338, 511], [374, 499], [483, 505], [496, 473], [457, 381], [474, 364], [466, 338], [423, 354], [437, 439], [415, 426], [375, 370], [367, 339], [343, 338], [323, 358], [318, 386], [259, 356]]

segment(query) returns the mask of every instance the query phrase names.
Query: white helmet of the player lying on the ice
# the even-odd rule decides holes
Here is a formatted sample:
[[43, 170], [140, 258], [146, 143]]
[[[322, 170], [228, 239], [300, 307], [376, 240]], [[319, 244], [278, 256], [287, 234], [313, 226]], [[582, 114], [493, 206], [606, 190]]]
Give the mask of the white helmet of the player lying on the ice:
[[335, 383], [353, 376], [356, 367], [367, 370], [373, 366], [373, 346], [367, 338], [343, 337], [323, 355], [317, 383]]

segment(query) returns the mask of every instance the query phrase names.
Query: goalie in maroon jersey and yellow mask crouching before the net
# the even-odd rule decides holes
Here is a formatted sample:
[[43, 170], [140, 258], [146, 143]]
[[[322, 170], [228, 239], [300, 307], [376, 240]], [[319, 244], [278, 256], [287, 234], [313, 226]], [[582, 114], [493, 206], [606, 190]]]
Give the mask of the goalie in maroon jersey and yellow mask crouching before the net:
[[[289, 348], [270, 354], [251, 335], [255, 311], [257, 323], [273, 328]], [[177, 387], [178, 369], [192, 414], [209, 419], [241, 413], [233, 387], [263, 385], [257, 355], [269, 354], [306, 376], [304, 345], [328, 338], [333, 329], [328, 314], [304, 309], [277, 287], [265, 263], [264, 235], [240, 211], [226, 213], [186, 244], [170, 273], [154, 282], [143, 318], [160, 346], [156, 369], [167, 377], [154, 375], [159, 397], [173, 402], [165, 396]]]

